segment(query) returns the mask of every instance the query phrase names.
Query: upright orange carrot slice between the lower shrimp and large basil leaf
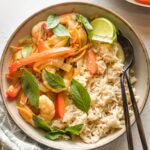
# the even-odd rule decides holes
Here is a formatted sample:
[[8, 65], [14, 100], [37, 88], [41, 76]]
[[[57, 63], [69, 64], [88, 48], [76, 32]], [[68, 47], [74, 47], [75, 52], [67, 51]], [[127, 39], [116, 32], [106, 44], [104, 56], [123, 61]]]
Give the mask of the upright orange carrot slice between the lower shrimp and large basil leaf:
[[58, 93], [55, 100], [55, 117], [63, 119], [65, 109], [65, 100], [63, 93]]

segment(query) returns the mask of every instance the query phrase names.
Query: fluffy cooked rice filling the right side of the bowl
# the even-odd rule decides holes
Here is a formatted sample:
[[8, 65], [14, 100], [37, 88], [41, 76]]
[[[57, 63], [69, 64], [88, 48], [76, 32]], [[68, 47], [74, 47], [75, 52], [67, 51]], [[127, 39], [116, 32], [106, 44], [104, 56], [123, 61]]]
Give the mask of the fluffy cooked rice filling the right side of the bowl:
[[[52, 126], [57, 128], [83, 123], [80, 137], [86, 143], [95, 143], [124, 126], [119, 79], [123, 64], [117, 57], [117, 49], [100, 45], [94, 51], [97, 52], [99, 74], [91, 78], [85, 62], [80, 60], [77, 64], [80, 72], [74, 76], [90, 94], [91, 107], [88, 114], [79, 110], [68, 98], [63, 121], [54, 120], [52, 123]], [[133, 77], [131, 80], [134, 83], [136, 78]], [[128, 91], [127, 98], [132, 113]]]

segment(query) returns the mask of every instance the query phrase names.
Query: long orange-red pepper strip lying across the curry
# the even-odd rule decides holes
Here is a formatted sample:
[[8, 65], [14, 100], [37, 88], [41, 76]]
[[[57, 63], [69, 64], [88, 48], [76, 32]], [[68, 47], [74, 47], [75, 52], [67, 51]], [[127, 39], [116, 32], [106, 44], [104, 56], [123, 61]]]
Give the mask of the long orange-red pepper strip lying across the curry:
[[49, 58], [57, 58], [62, 57], [63, 55], [72, 53], [74, 50], [69, 47], [61, 47], [61, 48], [54, 48], [47, 51], [43, 51], [41, 53], [33, 54], [29, 57], [22, 58], [19, 61], [16, 61], [15, 63], [11, 64], [9, 66], [9, 71], [14, 72], [17, 71], [18, 68], [31, 64], [33, 62], [38, 62], [42, 60], [47, 60]]

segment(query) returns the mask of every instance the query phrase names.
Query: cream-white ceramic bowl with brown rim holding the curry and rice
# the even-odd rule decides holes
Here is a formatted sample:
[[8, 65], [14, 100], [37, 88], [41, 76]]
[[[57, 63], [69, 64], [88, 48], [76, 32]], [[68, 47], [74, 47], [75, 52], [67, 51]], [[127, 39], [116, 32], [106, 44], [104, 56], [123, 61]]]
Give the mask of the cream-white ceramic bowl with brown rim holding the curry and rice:
[[[15, 101], [8, 102], [5, 98], [5, 91], [6, 88], [8, 87], [8, 82], [5, 78], [5, 73], [8, 71], [9, 61], [11, 60], [12, 57], [12, 53], [9, 50], [9, 46], [11, 44], [15, 45], [19, 39], [30, 34], [33, 25], [35, 25], [37, 22], [41, 20], [46, 19], [49, 14], [62, 14], [62, 13], [72, 12], [72, 11], [81, 13], [87, 17], [93, 15], [106, 17], [110, 19], [116, 25], [116, 27], [123, 32], [124, 36], [126, 36], [129, 40], [131, 40], [134, 47], [134, 54], [135, 54], [135, 71], [136, 71], [136, 78], [137, 78], [137, 83], [135, 86], [138, 95], [141, 97], [141, 101], [139, 101], [138, 103], [139, 110], [141, 112], [148, 97], [149, 83], [150, 83], [149, 82], [150, 67], [149, 67], [149, 59], [148, 59], [147, 51], [143, 43], [137, 36], [136, 32], [125, 20], [123, 20], [121, 17], [119, 17], [112, 11], [93, 4], [81, 3], [81, 2], [61, 3], [58, 5], [45, 8], [39, 11], [38, 13], [32, 15], [31, 17], [29, 17], [27, 20], [25, 20], [12, 34], [4, 49], [2, 59], [1, 59], [1, 67], [0, 67], [0, 76], [1, 76], [0, 83], [1, 83], [1, 93], [3, 97], [3, 101], [10, 116], [15, 121], [15, 123], [29, 137], [33, 138], [39, 143], [42, 143], [44, 145], [56, 149], [85, 150], [85, 149], [97, 148], [107, 143], [110, 143], [111, 141], [115, 140], [120, 135], [122, 135], [125, 132], [125, 129], [123, 128], [105, 138], [102, 138], [101, 140], [99, 140], [99, 142], [95, 144], [86, 144], [79, 139], [75, 139], [74, 141], [50, 141], [43, 136], [43, 133], [40, 130], [32, 128], [20, 117], [16, 109]], [[134, 118], [131, 118], [131, 120], [133, 123]]]

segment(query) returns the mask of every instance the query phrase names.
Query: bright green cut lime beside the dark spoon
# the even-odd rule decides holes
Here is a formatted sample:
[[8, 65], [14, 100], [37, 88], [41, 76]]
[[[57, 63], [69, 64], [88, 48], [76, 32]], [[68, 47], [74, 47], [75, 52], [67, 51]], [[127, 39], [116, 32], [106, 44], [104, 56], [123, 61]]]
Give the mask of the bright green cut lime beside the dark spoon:
[[104, 43], [113, 43], [117, 39], [116, 28], [112, 22], [106, 18], [96, 18], [91, 22], [93, 30], [89, 31], [92, 40]]

